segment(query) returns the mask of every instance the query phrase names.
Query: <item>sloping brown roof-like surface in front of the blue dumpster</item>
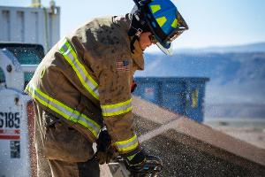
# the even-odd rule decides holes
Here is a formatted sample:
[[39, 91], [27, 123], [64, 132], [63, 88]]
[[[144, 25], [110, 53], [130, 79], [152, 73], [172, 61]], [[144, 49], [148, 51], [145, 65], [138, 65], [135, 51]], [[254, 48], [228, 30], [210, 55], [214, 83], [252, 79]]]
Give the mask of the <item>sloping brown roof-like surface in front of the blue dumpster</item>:
[[[200, 164], [203, 163], [204, 173], [214, 176], [262, 176], [265, 173], [265, 150], [261, 148], [186, 119], [139, 97], [133, 97], [133, 114], [143, 146], [146, 150], [162, 157], [164, 163], [175, 166], [170, 168], [171, 171], [185, 171], [186, 167], [178, 169], [177, 165], [186, 164], [187, 168], [194, 168], [194, 171], [182, 172], [183, 174], [200, 176], [201, 173], [196, 170], [201, 170], [199, 168], [203, 166]], [[179, 147], [185, 148], [179, 149]], [[179, 154], [185, 154], [186, 158], [180, 158]], [[174, 156], [176, 159], [170, 158]], [[187, 158], [198, 163], [193, 161], [187, 163]], [[213, 173], [215, 171], [216, 173]], [[172, 175], [172, 173], [163, 174], [163, 176]]]

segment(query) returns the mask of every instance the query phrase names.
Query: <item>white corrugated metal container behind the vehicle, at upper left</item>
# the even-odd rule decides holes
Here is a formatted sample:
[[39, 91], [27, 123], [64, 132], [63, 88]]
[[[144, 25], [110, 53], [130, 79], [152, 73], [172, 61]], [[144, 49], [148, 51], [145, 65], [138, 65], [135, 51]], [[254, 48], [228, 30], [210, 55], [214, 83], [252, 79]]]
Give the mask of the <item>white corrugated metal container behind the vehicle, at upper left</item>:
[[60, 37], [60, 8], [0, 6], [0, 42], [38, 43], [47, 52]]

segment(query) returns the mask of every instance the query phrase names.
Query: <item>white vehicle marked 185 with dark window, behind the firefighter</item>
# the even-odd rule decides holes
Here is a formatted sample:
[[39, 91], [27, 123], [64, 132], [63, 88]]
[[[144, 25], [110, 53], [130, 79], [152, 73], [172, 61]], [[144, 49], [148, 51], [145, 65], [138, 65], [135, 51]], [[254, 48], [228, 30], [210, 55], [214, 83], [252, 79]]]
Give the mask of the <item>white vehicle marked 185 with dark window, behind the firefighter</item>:
[[35, 173], [33, 105], [23, 90], [43, 56], [40, 44], [0, 43], [1, 177]]

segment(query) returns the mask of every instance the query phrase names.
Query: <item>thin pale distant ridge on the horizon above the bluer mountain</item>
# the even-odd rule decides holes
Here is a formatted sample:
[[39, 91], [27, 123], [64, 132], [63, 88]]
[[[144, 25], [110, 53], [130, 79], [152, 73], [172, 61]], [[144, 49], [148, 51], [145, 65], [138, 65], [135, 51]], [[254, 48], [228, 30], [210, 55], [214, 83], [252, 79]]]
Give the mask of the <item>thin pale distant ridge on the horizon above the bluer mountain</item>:
[[265, 52], [265, 42], [250, 43], [238, 46], [226, 46], [226, 47], [208, 47], [201, 49], [177, 49], [176, 52], [181, 53], [228, 53], [228, 52], [238, 52], [238, 53], [249, 53], [249, 52]]

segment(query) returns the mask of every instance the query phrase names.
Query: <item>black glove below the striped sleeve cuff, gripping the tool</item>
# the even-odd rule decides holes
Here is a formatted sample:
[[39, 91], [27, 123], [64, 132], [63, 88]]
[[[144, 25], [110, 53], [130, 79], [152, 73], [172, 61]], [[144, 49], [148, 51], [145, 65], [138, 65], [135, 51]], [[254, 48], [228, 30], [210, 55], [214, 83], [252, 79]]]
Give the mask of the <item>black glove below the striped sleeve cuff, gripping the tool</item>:
[[162, 161], [155, 156], [148, 156], [143, 150], [125, 158], [127, 169], [133, 174], [158, 173], [162, 170]]

